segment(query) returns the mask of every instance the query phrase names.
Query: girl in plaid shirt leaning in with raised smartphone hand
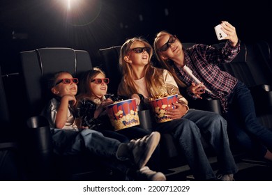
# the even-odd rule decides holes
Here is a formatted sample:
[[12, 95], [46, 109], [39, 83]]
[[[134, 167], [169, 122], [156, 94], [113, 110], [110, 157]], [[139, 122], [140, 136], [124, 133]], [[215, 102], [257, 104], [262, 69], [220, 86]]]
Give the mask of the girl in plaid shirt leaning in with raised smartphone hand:
[[240, 52], [236, 28], [222, 21], [220, 30], [227, 35], [220, 49], [203, 44], [184, 49], [179, 38], [160, 31], [153, 42], [156, 57], [192, 100], [203, 96], [220, 100], [229, 133], [239, 145], [254, 156], [272, 161], [272, 131], [259, 122], [249, 88], [220, 69]]

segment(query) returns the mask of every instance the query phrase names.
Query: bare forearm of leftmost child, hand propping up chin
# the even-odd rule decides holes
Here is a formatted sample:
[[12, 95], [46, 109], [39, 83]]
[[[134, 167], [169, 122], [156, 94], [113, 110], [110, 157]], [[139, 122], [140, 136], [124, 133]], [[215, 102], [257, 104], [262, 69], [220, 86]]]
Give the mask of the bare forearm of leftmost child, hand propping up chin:
[[55, 126], [58, 129], [62, 129], [67, 122], [68, 105], [70, 101], [72, 101], [72, 104], [75, 104], [76, 102], [75, 96], [63, 95], [63, 97], [61, 98], [61, 104], [59, 105], [59, 109], [56, 112], [56, 121], [55, 121]]

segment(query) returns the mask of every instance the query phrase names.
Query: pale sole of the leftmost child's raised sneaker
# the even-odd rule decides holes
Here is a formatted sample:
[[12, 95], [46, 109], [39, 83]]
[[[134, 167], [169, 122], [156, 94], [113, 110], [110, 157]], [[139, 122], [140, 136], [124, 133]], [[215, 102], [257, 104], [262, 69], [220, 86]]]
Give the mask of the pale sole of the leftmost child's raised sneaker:
[[142, 169], [146, 165], [146, 163], [149, 162], [151, 155], [153, 154], [154, 150], [157, 148], [158, 143], [160, 142], [160, 133], [152, 132], [149, 135], [148, 139], [149, 140], [147, 141], [146, 144], [149, 145], [150, 143], [152, 143], [151, 144], [152, 147], [149, 148], [149, 150], [146, 150], [145, 153], [141, 156], [141, 158], [139, 158], [139, 162], [140, 162], [140, 160], [143, 159], [143, 157], [145, 157], [144, 161], [141, 164], [139, 164], [139, 162], [136, 162], [136, 164], [138, 164], [139, 166], [138, 169]]

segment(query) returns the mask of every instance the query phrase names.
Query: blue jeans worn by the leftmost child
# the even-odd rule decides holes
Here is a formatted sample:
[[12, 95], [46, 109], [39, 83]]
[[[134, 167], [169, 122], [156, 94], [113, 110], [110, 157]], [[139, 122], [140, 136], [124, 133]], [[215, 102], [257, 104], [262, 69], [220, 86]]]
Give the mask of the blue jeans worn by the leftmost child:
[[89, 151], [99, 162], [117, 169], [123, 173], [128, 173], [132, 168], [132, 163], [126, 157], [119, 158], [116, 152], [123, 143], [116, 139], [103, 136], [96, 130], [84, 129], [81, 132], [71, 130], [52, 130], [54, 142], [54, 152], [59, 155], [76, 155]]

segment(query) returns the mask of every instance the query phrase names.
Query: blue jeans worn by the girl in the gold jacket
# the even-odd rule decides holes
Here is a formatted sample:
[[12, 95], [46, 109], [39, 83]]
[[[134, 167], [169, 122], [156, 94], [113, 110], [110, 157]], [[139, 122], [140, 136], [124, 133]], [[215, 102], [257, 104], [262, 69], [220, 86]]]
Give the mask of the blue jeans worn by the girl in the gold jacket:
[[183, 118], [158, 123], [157, 127], [160, 133], [171, 133], [179, 141], [196, 180], [216, 180], [204, 151], [202, 138], [215, 150], [220, 173], [233, 174], [238, 171], [229, 148], [227, 122], [219, 114], [189, 109]]

